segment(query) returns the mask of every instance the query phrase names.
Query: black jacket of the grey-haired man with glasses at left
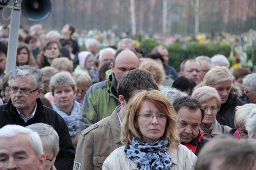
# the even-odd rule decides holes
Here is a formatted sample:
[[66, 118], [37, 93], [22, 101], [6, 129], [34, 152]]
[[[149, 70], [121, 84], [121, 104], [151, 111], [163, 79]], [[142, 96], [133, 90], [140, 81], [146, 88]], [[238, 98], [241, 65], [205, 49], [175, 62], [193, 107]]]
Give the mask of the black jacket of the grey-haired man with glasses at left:
[[59, 153], [54, 166], [58, 170], [72, 169], [75, 158], [75, 149], [73, 147], [68, 127], [64, 119], [54, 110], [43, 106], [41, 100], [37, 99], [37, 110], [33, 118], [27, 123], [24, 122], [17, 109], [12, 105], [11, 99], [7, 104], [0, 106], [0, 128], [7, 124], [16, 124], [28, 126], [34, 123], [46, 123], [53, 126], [59, 135]]

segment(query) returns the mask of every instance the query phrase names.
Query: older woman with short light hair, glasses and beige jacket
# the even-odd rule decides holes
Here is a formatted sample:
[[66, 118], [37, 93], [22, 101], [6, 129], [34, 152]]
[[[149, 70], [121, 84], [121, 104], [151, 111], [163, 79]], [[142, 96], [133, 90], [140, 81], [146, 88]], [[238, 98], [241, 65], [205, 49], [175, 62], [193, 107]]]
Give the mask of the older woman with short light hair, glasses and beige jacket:
[[221, 98], [216, 89], [209, 86], [199, 87], [192, 93], [191, 97], [196, 98], [204, 108], [200, 130], [205, 139], [210, 140], [229, 132], [231, 129], [229, 126], [220, 125], [216, 120], [218, 109], [221, 107]]

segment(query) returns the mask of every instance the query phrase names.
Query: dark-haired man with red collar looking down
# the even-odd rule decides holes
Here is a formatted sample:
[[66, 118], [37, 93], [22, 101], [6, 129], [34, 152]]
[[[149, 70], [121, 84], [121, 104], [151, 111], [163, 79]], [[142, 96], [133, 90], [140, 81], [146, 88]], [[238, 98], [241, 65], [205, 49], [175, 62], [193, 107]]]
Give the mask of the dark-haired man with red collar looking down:
[[197, 99], [190, 96], [177, 98], [173, 107], [178, 117], [178, 133], [180, 140], [190, 151], [198, 155], [208, 141], [203, 138], [199, 127], [204, 117], [204, 108]]

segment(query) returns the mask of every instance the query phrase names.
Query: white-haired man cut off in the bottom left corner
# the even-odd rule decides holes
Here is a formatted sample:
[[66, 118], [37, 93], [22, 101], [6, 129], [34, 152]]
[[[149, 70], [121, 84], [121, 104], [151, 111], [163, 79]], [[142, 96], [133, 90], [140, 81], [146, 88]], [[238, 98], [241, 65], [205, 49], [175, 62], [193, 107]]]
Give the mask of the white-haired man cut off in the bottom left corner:
[[39, 135], [19, 125], [0, 129], [0, 169], [43, 170], [45, 154]]

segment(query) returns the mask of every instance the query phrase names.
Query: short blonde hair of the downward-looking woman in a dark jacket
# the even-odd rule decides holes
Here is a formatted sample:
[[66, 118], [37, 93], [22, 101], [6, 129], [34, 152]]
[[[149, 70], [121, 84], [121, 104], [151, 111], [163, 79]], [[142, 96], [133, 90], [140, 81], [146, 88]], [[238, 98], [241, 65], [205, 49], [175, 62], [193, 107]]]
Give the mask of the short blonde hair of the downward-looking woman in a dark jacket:
[[202, 86], [208, 85], [213, 87], [215, 84], [225, 81], [233, 82], [233, 75], [230, 73], [227, 67], [215, 66], [212, 67], [210, 71], [204, 76]]

